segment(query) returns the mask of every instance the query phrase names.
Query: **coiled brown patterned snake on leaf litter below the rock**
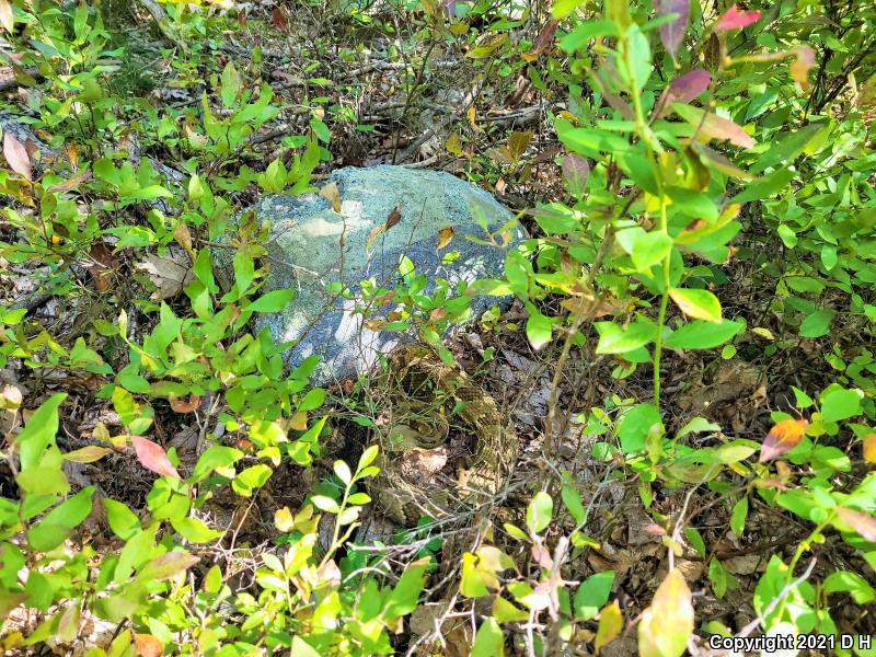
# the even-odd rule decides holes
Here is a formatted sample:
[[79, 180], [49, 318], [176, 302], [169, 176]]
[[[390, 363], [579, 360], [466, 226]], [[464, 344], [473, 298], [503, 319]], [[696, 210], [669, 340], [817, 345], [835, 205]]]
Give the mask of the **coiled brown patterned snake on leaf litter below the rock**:
[[[369, 484], [378, 510], [412, 526], [420, 516], [447, 518], [488, 503], [517, 458], [510, 418], [461, 367], [443, 362], [428, 347], [400, 347], [388, 361], [378, 390], [389, 419], [376, 431], [380, 472]], [[437, 470], [447, 462], [451, 431], [469, 443], [469, 466], [448, 481]]]

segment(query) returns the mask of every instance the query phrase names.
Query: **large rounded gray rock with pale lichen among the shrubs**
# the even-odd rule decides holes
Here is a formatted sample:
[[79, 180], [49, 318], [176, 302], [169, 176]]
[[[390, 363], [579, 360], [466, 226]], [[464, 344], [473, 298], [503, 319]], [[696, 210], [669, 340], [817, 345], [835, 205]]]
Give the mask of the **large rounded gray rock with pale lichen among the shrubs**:
[[[487, 238], [476, 220], [479, 216], [487, 220], [491, 230], [511, 218], [489, 194], [443, 172], [390, 165], [346, 168], [335, 171], [327, 183], [337, 185], [339, 214], [316, 194], [268, 196], [253, 208], [257, 221], [272, 222], [266, 245], [270, 273], [265, 291], [296, 290], [288, 308], [260, 314], [255, 328], [267, 326], [277, 343], [299, 341], [286, 353], [291, 366], [312, 354], [321, 355], [314, 373], [318, 384], [366, 372], [381, 353], [412, 337], [371, 331], [365, 325], [364, 316], [354, 312], [357, 302], [361, 307], [362, 280], [393, 289], [401, 281], [399, 264], [403, 255], [414, 264], [417, 275], [426, 275], [427, 292], [438, 278], [451, 287], [460, 280], [502, 278], [504, 250], [469, 238]], [[401, 209], [401, 220], [380, 232], [366, 250], [374, 228], [387, 221], [395, 206]], [[453, 229], [454, 237], [439, 250], [438, 234], [447, 228]], [[526, 237], [520, 228], [511, 232], [509, 247]], [[453, 251], [459, 257], [442, 262]], [[336, 281], [347, 286], [353, 298], [335, 298], [330, 286]], [[496, 303], [495, 297], [473, 298], [468, 319], [480, 318]], [[393, 304], [383, 307], [378, 316], [391, 310]]]

